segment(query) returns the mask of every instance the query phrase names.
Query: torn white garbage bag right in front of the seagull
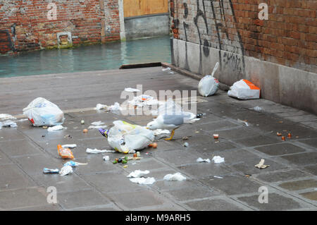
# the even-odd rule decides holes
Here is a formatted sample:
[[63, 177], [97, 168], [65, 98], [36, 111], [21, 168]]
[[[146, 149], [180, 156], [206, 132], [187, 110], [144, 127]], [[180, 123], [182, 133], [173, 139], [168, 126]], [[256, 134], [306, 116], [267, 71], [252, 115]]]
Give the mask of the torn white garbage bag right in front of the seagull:
[[108, 133], [108, 143], [118, 152], [127, 154], [142, 150], [154, 141], [154, 132], [143, 126], [125, 121], [114, 121], [113, 124], [115, 126]]

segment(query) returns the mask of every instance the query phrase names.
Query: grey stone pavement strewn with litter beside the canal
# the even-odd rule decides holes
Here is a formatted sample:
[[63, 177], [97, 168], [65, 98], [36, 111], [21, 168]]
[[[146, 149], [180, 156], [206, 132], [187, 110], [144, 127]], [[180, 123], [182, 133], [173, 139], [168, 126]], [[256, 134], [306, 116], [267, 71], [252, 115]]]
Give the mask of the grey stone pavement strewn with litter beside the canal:
[[[93, 121], [108, 126], [118, 119], [145, 125], [151, 116], [121, 116], [95, 111], [97, 103], [123, 102], [125, 87], [145, 90], [197, 90], [198, 81], [161, 67], [125, 71], [97, 71], [0, 79], [0, 113], [22, 114], [35, 97], [46, 97], [66, 112], [67, 130], [48, 133], [28, 121], [18, 128], [0, 130], [1, 210], [316, 210], [317, 117], [298, 109], [256, 99], [240, 101], [218, 91], [199, 97], [200, 121], [186, 124], [172, 141], [159, 140], [158, 148], [141, 151], [137, 164], [104, 162], [119, 153], [87, 154], [89, 148], [110, 150], [98, 130], [82, 133]], [[254, 111], [253, 107], [261, 107]], [[89, 109], [90, 108], [90, 109]], [[18, 118], [22, 118], [18, 116]], [[84, 119], [85, 125], [80, 121]], [[247, 120], [249, 126], [239, 120]], [[277, 132], [292, 133], [285, 142]], [[218, 133], [220, 138], [213, 139]], [[71, 138], [65, 138], [70, 135]], [[189, 140], [182, 140], [187, 136]], [[189, 147], [183, 143], [188, 142]], [[73, 150], [75, 174], [43, 174], [44, 167], [61, 168], [58, 144], [77, 144]], [[148, 153], [148, 154], [146, 154]], [[225, 158], [222, 164], [197, 163], [202, 157]], [[256, 169], [266, 159], [267, 169]], [[126, 177], [136, 169], [149, 170], [153, 185], [137, 185]], [[163, 181], [180, 172], [186, 181]], [[249, 177], [245, 175], [251, 175]], [[216, 177], [215, 177], [216, 176]], [[46, 202], [46, 188], [57, 188], [58, 204]], [[260, 204], [259, 188], [268, 188], [268, 203]]]

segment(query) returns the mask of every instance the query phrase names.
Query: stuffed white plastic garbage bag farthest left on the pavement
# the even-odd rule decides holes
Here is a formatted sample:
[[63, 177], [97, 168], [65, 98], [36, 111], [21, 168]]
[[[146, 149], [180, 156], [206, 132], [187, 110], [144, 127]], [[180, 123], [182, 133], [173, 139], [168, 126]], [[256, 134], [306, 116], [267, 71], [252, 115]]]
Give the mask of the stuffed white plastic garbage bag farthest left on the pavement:
[[23, 114], [29, 118], [33, 126], [57, 126], [64, 122], [64, 114], [56, 104], [38, 97], [25, 109]]

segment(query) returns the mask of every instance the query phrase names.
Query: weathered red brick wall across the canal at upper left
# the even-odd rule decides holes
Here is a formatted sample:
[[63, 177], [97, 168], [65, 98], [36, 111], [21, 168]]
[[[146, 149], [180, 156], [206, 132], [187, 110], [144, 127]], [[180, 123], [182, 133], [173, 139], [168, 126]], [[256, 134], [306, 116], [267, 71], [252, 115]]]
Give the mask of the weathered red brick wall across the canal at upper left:
[[118, 40], [118, 20], [118, 0], [0, 0], [0, 53], [57, 47], [58, 32], [71, 32], [74, 45]]

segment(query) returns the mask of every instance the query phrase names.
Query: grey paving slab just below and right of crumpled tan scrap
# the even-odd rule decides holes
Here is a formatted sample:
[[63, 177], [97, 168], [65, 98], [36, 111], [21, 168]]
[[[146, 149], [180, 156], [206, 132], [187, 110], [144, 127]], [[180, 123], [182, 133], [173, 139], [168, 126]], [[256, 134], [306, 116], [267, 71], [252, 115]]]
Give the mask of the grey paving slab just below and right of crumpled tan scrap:
[[300, 170], [291, 170], [291, 171], [273, 171], [268, 174], [259, 174], [256, 178], [259, 178], [261, 181], [266, 182], [277, 182], [277, 181], [287, 181], [296, 178], [301, 178], [307, 176], [304, 171]]

